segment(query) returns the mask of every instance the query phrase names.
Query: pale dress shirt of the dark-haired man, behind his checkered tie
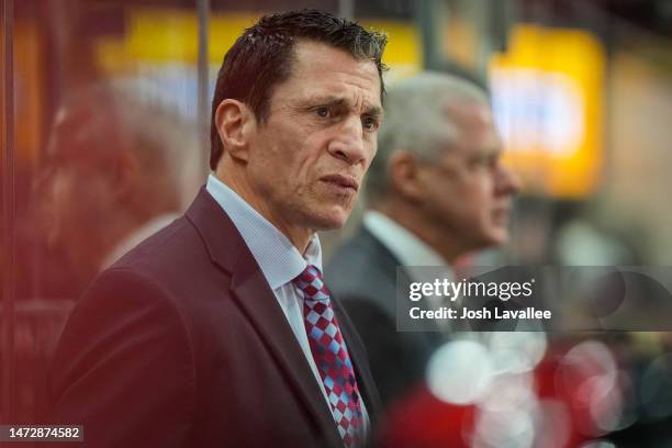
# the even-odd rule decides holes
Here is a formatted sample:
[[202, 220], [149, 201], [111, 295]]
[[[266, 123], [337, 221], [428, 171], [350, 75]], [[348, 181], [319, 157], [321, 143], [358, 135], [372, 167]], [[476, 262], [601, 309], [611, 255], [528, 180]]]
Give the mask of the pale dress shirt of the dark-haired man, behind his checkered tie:
[[[328, 408], [332, 410], [305, 333], [303, 292], [292, 283], [292, 280], [303, 272], [309, 265], [313, 265], [322, 271], [322, 247], [317, 234], [313, 234], [305, 254], [302, 256], [282, 232], [213, 175], [209, 176], [205, 189], [226, 212], [240, 236], [243, 236], [255, 260], [257, 260], [261, 273], [264, 273], [270, 289], [276, 294], [287, 322], [294, 332], [294, 336], [296, 336], [303, 355], [315, 376], [317, 384], [320, 384], [324, 400]], [[360, 403], [365, 430], [368, 433], [369, 416], [363, 397], [361, 397]]]

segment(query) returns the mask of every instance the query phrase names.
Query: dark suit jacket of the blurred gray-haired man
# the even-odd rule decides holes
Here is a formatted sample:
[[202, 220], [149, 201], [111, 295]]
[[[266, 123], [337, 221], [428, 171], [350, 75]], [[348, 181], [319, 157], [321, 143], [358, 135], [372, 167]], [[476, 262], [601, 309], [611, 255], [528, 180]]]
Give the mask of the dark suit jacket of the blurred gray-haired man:
[[[325, 267], [329, 290], [363, 340], [385, 406], [423, 380], [429, 356], [444, 341], [440, 333], [396, 332], [397, 266], [392, 253], [362, 227]], [[400, 273], [401, 281], [410, 281], [403, 268]]]

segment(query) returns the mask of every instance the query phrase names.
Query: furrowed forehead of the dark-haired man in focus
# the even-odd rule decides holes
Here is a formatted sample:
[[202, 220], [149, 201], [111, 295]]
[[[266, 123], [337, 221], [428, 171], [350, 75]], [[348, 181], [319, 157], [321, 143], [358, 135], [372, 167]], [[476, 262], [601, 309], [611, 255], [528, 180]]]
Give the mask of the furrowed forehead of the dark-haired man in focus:
[[289, 78], [276, 88], [276, 99], [307, 99], [328, 94], [381, 108], [381, 82], [376, 63], [356, 59], [327, 44], [299, 41]]

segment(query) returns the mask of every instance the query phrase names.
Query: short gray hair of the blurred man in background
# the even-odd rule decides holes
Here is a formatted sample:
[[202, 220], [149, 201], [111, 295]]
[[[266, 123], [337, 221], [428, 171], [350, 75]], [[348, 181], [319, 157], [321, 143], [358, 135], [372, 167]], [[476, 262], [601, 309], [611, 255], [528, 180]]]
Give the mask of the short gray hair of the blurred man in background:
[[385, 114], [378, 134], [378, 153], [367, 173], [367, 198], [388, 192], [388, 167], [397, 150], [423, 160], [435, 159], [458, 136], [447, 107], [475, 102], [490, 104], [488, 92], [455, 75], [424, 71], [392, 86], [385, 98]]

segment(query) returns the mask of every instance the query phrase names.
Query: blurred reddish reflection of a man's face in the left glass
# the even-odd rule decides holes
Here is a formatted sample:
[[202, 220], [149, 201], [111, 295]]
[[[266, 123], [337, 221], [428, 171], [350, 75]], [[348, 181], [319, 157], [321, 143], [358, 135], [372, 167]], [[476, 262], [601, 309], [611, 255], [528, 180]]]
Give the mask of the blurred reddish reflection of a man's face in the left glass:
[[[82, 108], [58, 113], [37, 191], [47, 248], [79, 271], [97, 269], [101, 250], [113, 243], [104, 235], [116, 210], [112, 155], [92, 143], [89, 113]], [[108, 130], [105, 138], [114, 139], [114, 127]]]

